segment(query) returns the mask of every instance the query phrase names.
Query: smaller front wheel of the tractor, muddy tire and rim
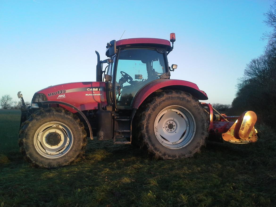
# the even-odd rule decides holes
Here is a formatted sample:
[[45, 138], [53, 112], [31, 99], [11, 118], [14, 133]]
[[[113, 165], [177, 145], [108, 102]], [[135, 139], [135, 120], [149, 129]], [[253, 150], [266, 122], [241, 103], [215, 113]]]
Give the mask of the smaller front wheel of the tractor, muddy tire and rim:
[[87, 144], [79, 118], [63, 108], [46, 108], [31, 115], [19, 132], [20, 151], [27, 161], [43, 168], [78, 160]]

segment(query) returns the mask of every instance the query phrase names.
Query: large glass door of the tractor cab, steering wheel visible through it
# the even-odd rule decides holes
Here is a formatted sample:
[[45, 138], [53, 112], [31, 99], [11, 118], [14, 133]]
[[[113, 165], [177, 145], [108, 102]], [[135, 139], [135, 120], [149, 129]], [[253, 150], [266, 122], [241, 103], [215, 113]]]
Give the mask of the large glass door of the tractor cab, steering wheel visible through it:
[[137, 92], [164, 72], [164, 54], [156, 48], [121, 48], [115, 75], [116, 108], [132, 108]]

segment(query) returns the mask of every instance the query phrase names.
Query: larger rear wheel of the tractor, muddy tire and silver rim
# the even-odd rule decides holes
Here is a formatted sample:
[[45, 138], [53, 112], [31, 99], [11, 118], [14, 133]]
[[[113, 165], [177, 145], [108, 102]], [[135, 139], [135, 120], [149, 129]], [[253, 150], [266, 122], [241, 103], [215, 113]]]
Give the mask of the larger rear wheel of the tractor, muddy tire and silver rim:
[[[149, 153], [164, 160], [193, 156], [205, 145], [208, 116], [191, 94], [156, 93], [139, 110], [139, 140]], [[138, 112], [139, 113], [139, 112]]]

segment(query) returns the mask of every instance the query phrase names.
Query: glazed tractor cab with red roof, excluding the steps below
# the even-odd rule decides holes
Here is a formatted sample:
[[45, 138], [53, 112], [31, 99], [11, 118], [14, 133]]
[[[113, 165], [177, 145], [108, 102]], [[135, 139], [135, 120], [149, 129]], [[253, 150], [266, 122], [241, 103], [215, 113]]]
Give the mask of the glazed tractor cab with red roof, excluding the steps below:
[[118, 110], [131, 109], [135, 96], [143, 87], [162, 78], [169, 79], [171, 68], [167, 54], [172, 49], [168, 40], [156, 38], [122, 39], [108, 43], [106, 55], [110, 59], [100, 63], [109, 64], [105, 71], [97, 67], [97, 81], [102, 81], [102, 73], [106, 72], [103, 80], [108, 83], [107, 89], [111, 89], [108, 91], [109, 103]]

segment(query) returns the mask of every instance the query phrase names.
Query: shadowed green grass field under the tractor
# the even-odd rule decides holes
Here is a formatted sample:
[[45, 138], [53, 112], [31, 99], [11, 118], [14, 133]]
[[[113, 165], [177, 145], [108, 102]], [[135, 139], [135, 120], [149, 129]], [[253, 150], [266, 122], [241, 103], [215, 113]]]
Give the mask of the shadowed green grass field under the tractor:
[[276, 206], [275, 135], [208, 143], [182, 160], [152, 160], [130, 145], [88, 140], [79, 163], [31, 167], [17, 145], [20, 111], [0, 110], [0, 206]]

